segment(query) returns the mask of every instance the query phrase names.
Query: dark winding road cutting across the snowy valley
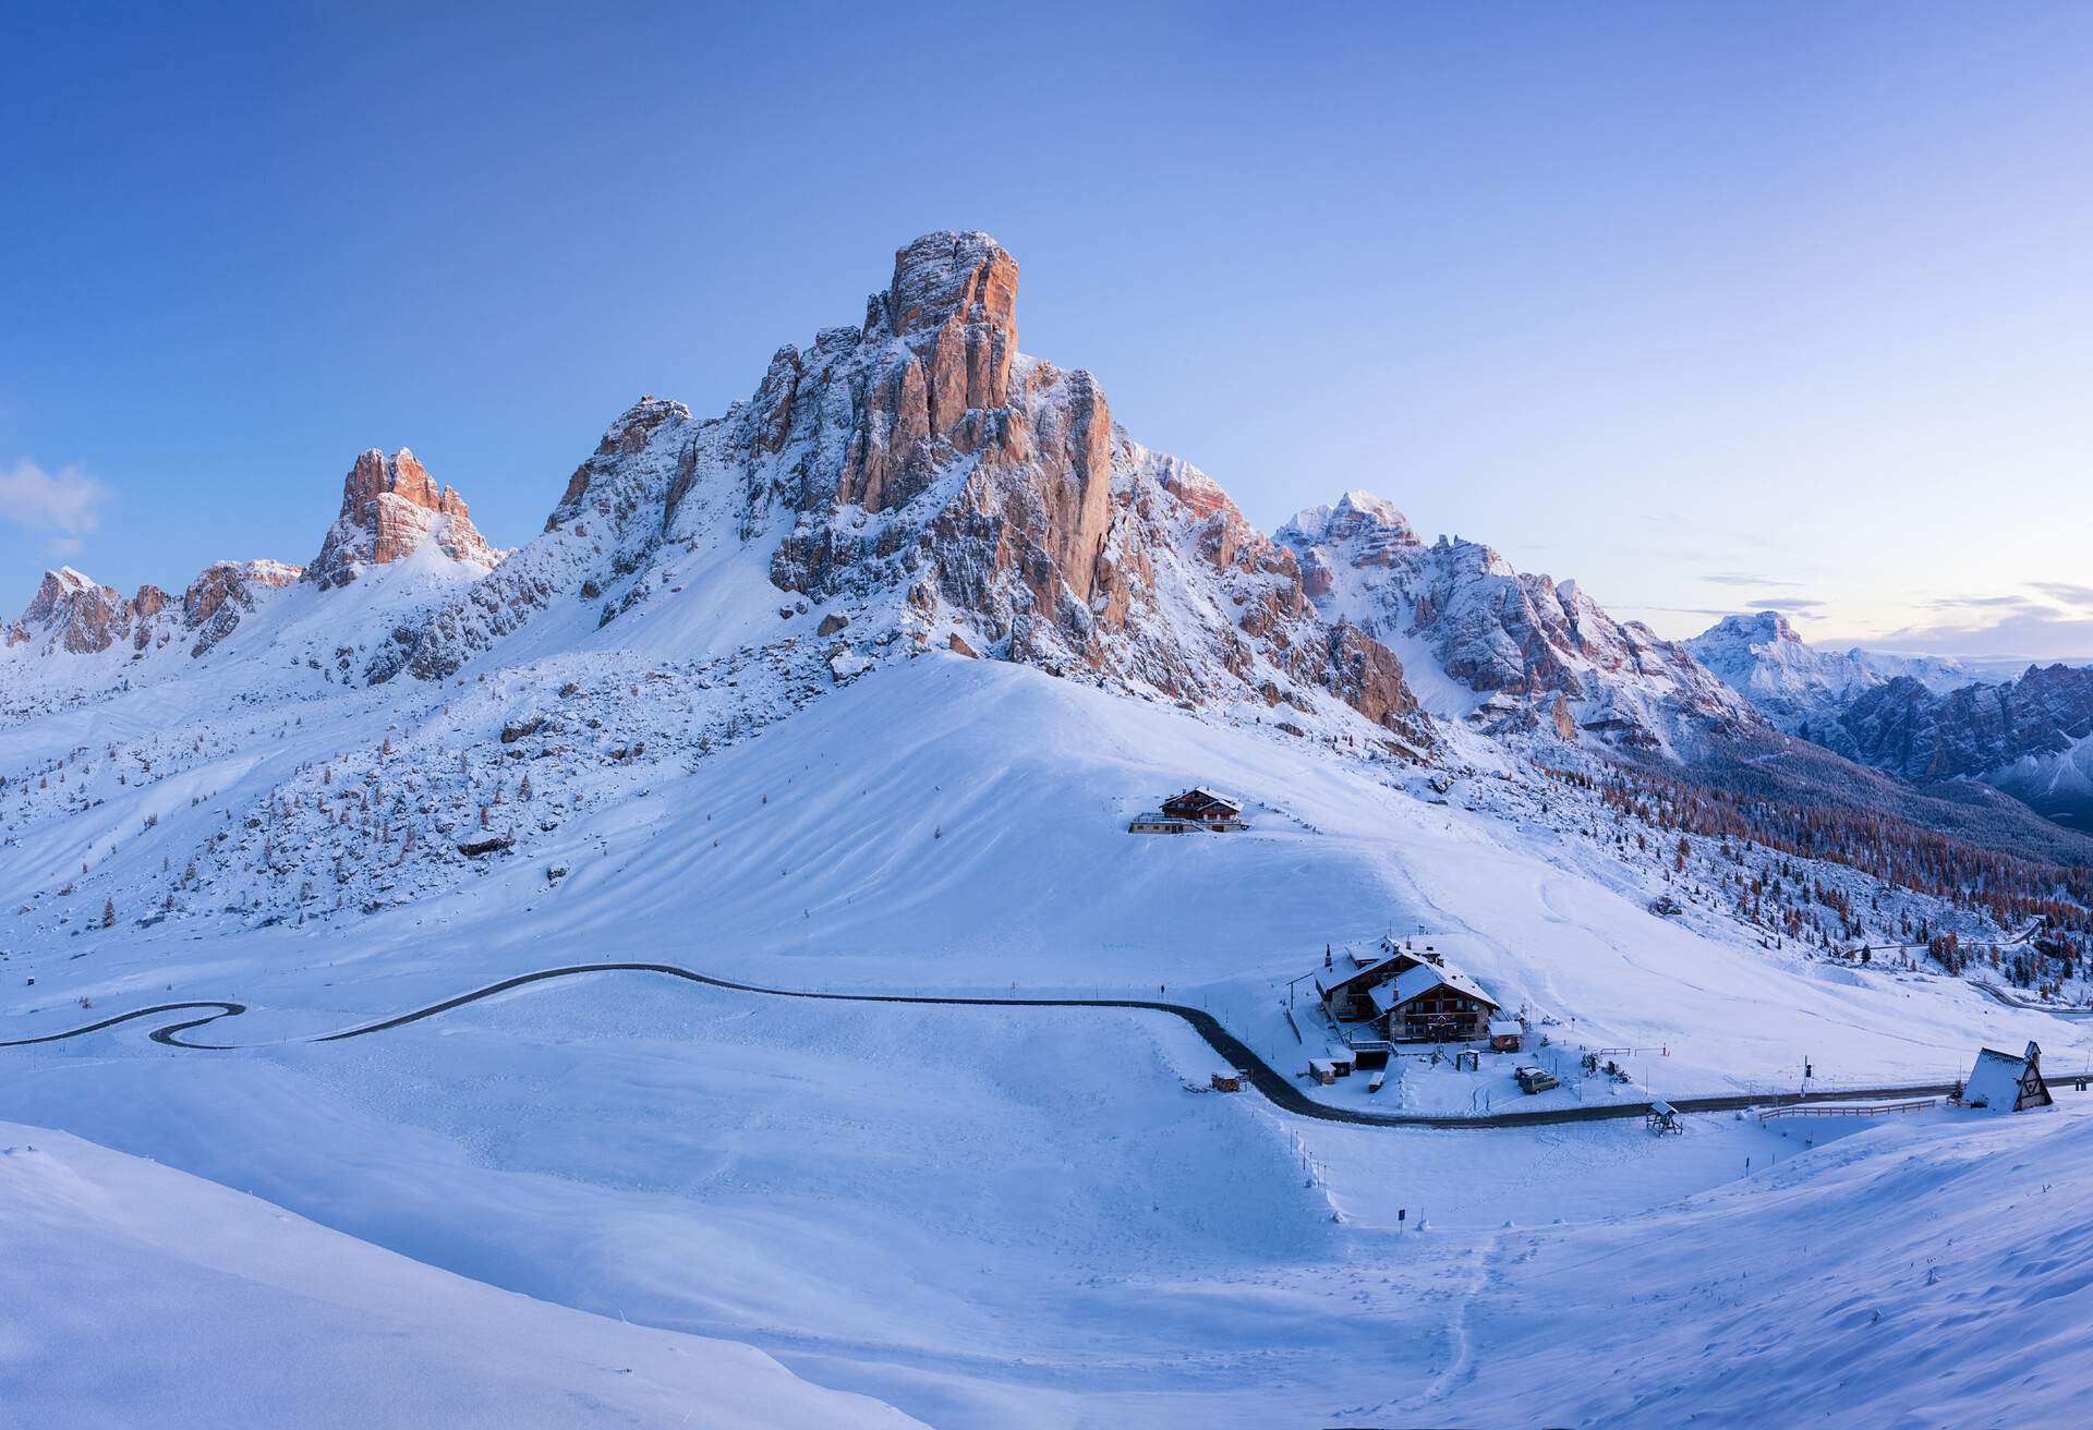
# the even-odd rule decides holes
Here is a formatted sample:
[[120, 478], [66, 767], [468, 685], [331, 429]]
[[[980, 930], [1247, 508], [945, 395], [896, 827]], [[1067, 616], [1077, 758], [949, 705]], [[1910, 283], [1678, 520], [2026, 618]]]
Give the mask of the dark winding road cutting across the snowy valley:
[[[707, 988], [724, 988], [726, 992], [753, 992], [768, 999], [827, 999], [833, 1003], [929, 1003], [938, 1007], [1111, 1007], [1111, 1009], [1134, 1009], [1145, 1013], [1170, 1013], [1172, 1018], [1183, 1018], [1191, 1024], [1193, 1032], [1206, 1038], [1231, 1068], [1243, 1068], [1250, 1072], [1252, 1085], [1264, 1093], [1273, 1105], [1283, 1112], [1291, 1112], [1302, 1118], [1319, 1118], [1323, 1122], [1356, 1122], [1360, 1126], [1444, 1126], [1444, 1129], [1484, 1129], [1484, 1126], [1547, 1126], [1555, 1122], [1607, 1122], [1614, 1118], [1639, 1118], [1649, 1112], [1645, 1101], [1622, 1101], [1605, 1103], [1595, 1108], [1545, 1108], [1534, 1112], [1494, 1112], [1486, 1116], [1427, 1116], [1419, 1112], [1354, 1112], [1350, 1108], [1331, 1108], [1329, 1103], [1314, 1101], [1302, 1093], [1289, 1078], [1275, 1070], [1268, 1062], [1258, 1057], [1241, 1038], [1220, 1026], [1220, 1022], [1206, 1009], [1185, 1007], [1183, 1003], [1160, 1003], [1153, 999], [942, 999], [933, 995], [904, 995], [904, 992], [816, 992], [810, 988], [764, 988], [762, 984], [743, 984], [730, 978], [714, 978], [710, 974], [699, 974], [697, 969], [678, 967], [674, 963], [569, 963], [565, 967], [546, 967], [536, 974], [517, 974], [515, 978], [504, 978], [496, 984], [483, 988], [473, 988], [471, 992], [460, 992], [454, 999], [444, 999], [442, 1003], [431, 1003], [427, 1007], [417, 1007], [410, 1013], [398, 1013], [375, 1024], [362, 1024], [356, 1028], [343, 1028], [341, 1032], [322, 1032], [308, 1043], [341, 1043], [345, 1038], [364, 1038], [373, 1032], [387, 1032], [391, 1028], [404, 1028], [406, 1024], [417, 1024], [423, 1018], [435, 1018], [437, 1013], [448, 1013], [454, 1007], [465, 1007], [467, 1003], [477, 1003], [481, 999], [492, 999], [511, 988], [523, 988], [525, 984], [540, 984], [553, 978], [576, 978], [580, 974], [663, 974], [668, 978], [682, 978], [693, 984], [703, 984]], [[103, 1018], [100, 1022], [86, 1024], [82, 1028], [67, 1028], [65, 1032], [46, 1032], [33, 1038], [0, 1038], [0, 1047], [31, 1047], [36, 1043], [61, 1043], [65, 1038], [80, 1038], [90, 1032], [103, 1032], [105, 1028], [115, 1028], [119, 1024], [138, 1022], [142, 1018], [157, 1018], [161, 1013], [195, 1013], [205, 1011], [203, 1018], [186, 1018], [182, 1022], [163, 1024], [153, 1028], [147, 1036], [165, 1047], [186, 1047], [205, 1053], [230, 1053], [239, 1051], [232, 1043], [190, 1043], [180, 1036], [205, 1024], [213, 1024], [220, 1018], [239, 1018], [247, 1011], [245, 1003], [226, 1001], [190, 1001], [190, 1003], [155, 1003], [151, 1007], [132, 1009], [130, 1013], [117, 1013], [115, 1018]], [[2062, 1087], [2072, 1087], [2072, 1082], [2060, 1082]], [[1842, 1089], [1819, 1089], [1815, 1093], [1735, 1093], [1727, 1097], [1679, 1097], [1672, 1099], [1672, 1108], [1679, 1112], [1733, 1112], [1743, 1108], [1756, 1108], [1766, 1101], [1777, 1103], [1810, 1103], [1810, 1101], [1842, 1101], [1848, 1097], [1940, 1097], [1953, 1091], [1949, 1082], [1919, 1082], [1903, 1087], [1842, 1087]]]

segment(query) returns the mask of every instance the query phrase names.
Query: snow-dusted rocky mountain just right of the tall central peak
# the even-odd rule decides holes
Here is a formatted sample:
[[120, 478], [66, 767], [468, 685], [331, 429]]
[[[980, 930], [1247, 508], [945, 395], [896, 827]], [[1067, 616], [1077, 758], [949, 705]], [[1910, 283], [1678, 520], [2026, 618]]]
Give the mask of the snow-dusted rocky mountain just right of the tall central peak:
[[[1421, 655], [1459, 683], [1455, 703], [1488, 731], [1578, 731], [1691, 758], [1710, 735], [1762, 729], [1743, 697], [1641, 622], [1616, 622], [1576, 582], [1511, 569], [1478, 542], [1425, 546], [1367, 492], [1310, 507], [1279, 530], [1327, 620]], [[1480, 697], [1480, 699], [1478, 699]]]

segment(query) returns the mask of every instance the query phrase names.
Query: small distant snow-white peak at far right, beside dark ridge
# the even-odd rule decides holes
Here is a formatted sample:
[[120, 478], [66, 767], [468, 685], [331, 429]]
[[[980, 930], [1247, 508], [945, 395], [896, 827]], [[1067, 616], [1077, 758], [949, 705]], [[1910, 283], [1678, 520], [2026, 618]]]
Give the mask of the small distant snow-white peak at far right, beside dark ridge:
[[1859, 750], [1838, 720], [1861, 693], [1903, 676], [1944, 695], [1978, 678], [1961, 662], [1938, 655], [1819, 651], [1779, 611], [1725, 616], [1685, 647], [1781, 731], [1848, 758]]

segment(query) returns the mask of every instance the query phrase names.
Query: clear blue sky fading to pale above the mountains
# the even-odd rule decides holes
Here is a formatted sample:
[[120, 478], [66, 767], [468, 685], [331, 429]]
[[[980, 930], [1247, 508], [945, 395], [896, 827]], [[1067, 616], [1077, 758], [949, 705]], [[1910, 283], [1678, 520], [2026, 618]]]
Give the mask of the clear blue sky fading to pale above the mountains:
[[2093, 8], [879, 10], [6, 6], [0, 609], [306, 561], [366, 446], [523, 542], [986, 228], [1264, 526], [2093, 657]]

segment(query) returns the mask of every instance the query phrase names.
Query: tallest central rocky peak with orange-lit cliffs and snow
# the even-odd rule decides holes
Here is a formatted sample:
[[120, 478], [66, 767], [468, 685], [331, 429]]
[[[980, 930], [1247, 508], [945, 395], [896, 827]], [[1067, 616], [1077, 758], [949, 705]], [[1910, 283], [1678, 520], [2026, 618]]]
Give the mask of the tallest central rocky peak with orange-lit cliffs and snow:
[[862, 325], [779, 350], [724, 417], [643, 400], [544, 536], [402, 632], [373, 678], [448, 674], [563, 601], [607, 624], [672, 565], [747, 557], [772, 597], [873, 616], [852, 639], [959, 636], [1187, 701], [1333, 697], [1425, 739], [1396, 655], [1331, 630], [1293, 553], [1120, 431], [1088, 373], [1021, 356], [1015, 299], [992, 239], [927, 234]]

